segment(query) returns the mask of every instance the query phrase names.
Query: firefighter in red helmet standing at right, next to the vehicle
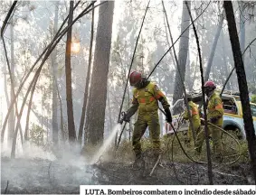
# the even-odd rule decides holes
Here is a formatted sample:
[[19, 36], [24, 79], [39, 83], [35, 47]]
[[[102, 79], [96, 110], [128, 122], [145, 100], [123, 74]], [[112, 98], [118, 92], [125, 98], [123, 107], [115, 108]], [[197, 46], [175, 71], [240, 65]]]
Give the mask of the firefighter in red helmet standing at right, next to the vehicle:
[[[205, 95], [207, 96], [207, 120], [213, 125], [223, 127], [223, 102], [222, 98], [215, 92], [215, 84], [213, 81], [206, 81], [204, 84]], [[212, 135], [213, 153], [216, 157], [221, 157], [223, 151], [222, 132], [219, 128], [208, 125], [209, 134]], [[195, 150], [201, 153], [202, 144], [204, 142], [204, 130], [201, 130], [196, 137]]]

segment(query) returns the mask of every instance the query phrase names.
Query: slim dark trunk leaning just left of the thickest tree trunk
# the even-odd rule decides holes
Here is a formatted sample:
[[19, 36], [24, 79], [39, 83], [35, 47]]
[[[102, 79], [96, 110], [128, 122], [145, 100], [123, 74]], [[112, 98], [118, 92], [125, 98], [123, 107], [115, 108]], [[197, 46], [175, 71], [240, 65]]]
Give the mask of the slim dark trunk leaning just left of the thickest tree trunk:
[[[93, 7], [93, 6], [92, 6]], [[78, 143], [81, 145], [81, 137], [82, 137], [82, 129], [84, 126], [85, 119], [85, 111], [88, 102], [88, 93], [89, 93], [89, 83], [90, 83], [90, 67], [91, 67], [91, 57], [92, 57], [92, 46], [93, 46], [93, 36], [94, 36], [94, 10], [91, 13], [91, 24], [90, 24], [90, 52], [89, 52], [89, 60], [88, 60], [88, 69], [86, 75], [86, 83], [84, 88], [84, 97], [83, 97], [83, 105], [81, 109], [81, 120], [79, 126], [79, 135], [78, 135]], [[84, 134], [85, 135], [85, 134]], [[85, 137], [84, 137], [85, 140]]]

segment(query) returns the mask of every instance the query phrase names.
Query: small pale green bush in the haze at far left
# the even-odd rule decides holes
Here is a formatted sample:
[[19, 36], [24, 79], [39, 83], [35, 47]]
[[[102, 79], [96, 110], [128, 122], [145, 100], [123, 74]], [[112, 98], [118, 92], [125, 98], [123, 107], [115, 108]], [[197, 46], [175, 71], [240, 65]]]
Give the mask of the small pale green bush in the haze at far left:
[[40, 125], [32, 125], [30, 129], [30, 141], [38, 146], [43, 146], [44, 129]]

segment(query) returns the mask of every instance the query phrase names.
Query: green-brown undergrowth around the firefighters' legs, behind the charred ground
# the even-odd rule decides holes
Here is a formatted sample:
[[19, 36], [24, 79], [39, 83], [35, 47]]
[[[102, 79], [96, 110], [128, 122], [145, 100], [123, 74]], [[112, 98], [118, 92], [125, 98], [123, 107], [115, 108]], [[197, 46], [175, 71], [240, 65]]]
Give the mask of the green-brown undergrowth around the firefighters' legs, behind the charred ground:
[[[229, 132], [234, 137], [236, 137], [234, 132]], [[187, 153], [190, 157], [192, 157], [196, 161], [206, 162], [207, 154], [206, 154], [206, 144], [204, 142], [202, 147], [202, 153], [198, 155], [194, 151], [194, 142], [192, 141], [190, 144], [185, 143], [186, 134], [184, 132], [179, 132], [178, 137], [180, 139], [181, 144], [185, 149], [185, 153], [181, 149], [180, 144], [175, 137], [175, 135], [164, 135], [161, 138], [161, 151], [162, 151], [162, 162], [171, 163], [172, 161], [175, 163], [190, 163], [191, 160], [187, 158], [185, 153]], [[248, 146], [245, 140], [238, 140], [241, 144], [241, 148], [238, 144], [232, 139], [230, 135], [223, 134], [223, 163], [248, 163]], [[142, 138], [141, 140], [142, 153], [147, 155], [148, 151], [152, 150], [152, 144], [149, 138]], [[212, 159], [214, 162], [213, 155], [213, 142], [210, 139], [210, 146], [212, 152]], [[173, 147], [173, 148], [172, 148]], [[99, 150], [99, 146], [87, 146], [86, 150], [83, 153], [86, 156], [91, 156], [93, 153], [96, 153]], [[240, 158], [238, 156], [240, 154]], [[106, 149], [106, 152], [100, 158], [102, 161], [107, 162], [115, 162], [115, 163], [132, 163], [135, 160], [134, 153], [132, 150], [132, 144], [129, 140], [123, 140], [119, 144], [118, 150], [114, 143]]]

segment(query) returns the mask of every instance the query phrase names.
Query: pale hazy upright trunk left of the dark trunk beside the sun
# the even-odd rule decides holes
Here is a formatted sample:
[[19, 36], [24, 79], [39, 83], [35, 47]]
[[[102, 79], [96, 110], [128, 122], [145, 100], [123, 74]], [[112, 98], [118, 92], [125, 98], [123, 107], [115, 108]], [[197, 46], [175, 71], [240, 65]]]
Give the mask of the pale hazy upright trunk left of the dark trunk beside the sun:
[[[55, 5], [55, 16], [54, 16], [54, 24], [53, 24], [53, 36], [55, 36], [58, 30], [58, 14], [59, 14], [59, 1], [56, 2]], [[57, 90], [57, 69], [58, 64], [56, 63], [57, 58], [57, 49], [52, 51], [51, 60], [52, 60], [52, 142], [54, 148], [58, 147], [58, 90]]]

